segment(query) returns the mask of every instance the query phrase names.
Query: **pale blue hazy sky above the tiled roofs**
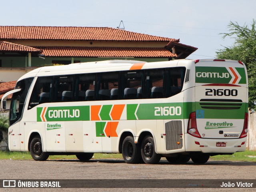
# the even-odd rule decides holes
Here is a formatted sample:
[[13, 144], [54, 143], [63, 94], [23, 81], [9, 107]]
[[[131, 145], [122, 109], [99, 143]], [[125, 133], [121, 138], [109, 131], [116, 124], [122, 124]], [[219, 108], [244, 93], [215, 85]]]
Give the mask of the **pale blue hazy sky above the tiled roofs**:
[[222, 38], [230, 21], [250, 26], [256, 0], [9, 0], [0, 26], [112, 27], [180, 39], [197, 47], [189, 59], [211, 59], [234, 38]]

